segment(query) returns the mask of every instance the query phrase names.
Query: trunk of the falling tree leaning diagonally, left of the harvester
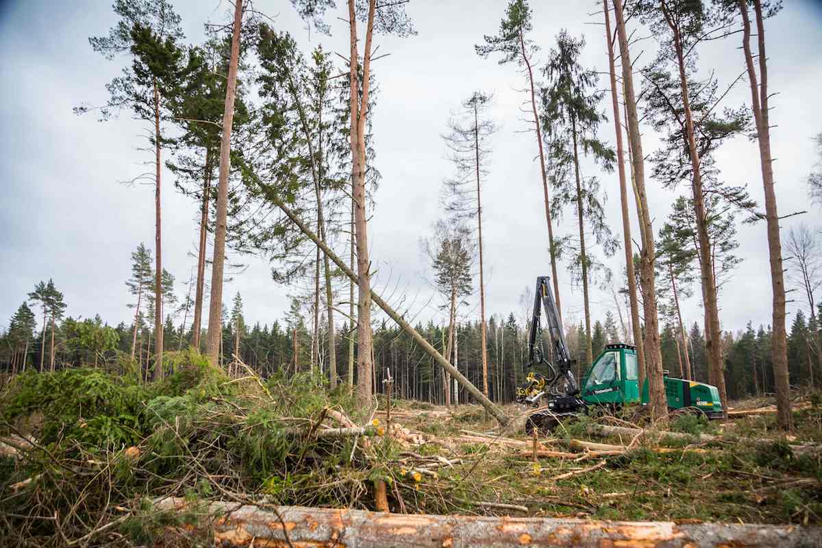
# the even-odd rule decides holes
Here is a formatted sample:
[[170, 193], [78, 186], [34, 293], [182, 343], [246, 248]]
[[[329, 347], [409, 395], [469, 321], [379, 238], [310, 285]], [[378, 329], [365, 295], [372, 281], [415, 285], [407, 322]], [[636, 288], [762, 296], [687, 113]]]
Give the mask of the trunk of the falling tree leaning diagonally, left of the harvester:
[[[357, 274], [353, 273], [353, 270], [349, 268], [349, 265], [346, 265], [342, 260], [336, 256], [334, 251], [331, 251], [328, 246], [326, 246], [325, 242], [322, 242], [320, 238], [316, 236], [315, 233], [312, 232], [310, 228], [308, 228], [305, 223], [302, 223], [300, 219], [298, 219], [297, 215], [293, 213], [293, 211], [284, 204], [283, 200], [279, 199], [279, 196], [276, 195], [274, 191], [266, 188], [266, 197], [271, 200], [283, 213], [291, 219], [291, 222], [296, 224], [297, 227], [305, 234], [312, 242], [318, 246], [326, 256], [334, 261], [334, 264], [339, 267], [340, 270], [344, 272], [346, 276], [353, 280], [354, 283], [358, 283], [358, 276]], [[399, 312], [395, 311], [391, 306], [388, 305], [387, 302], [382, 300], [382, 297], [376, 294], [376, 292], [372, 289], [371, 290], [371, 298], [373, 302], [376, 302], [376, 306], [379, 306], [383, 311], [386, 312], [387, 315], [390, 316], [391, 320], [394, 320], [397, 325], [406, 334], [409, 334], [413, 341], [417, 343], [423, 351], [426, 352], [429, 356], [431, 356], [434, 361], [436, 361], [437, 365], [441, 366], [444, 370], [446, 370], [449, 375], [454, 377], [459, 385], [462, 385], [464, 389], [468, 390], [469, 393], [474, 397], [477, 398], [477, 401], [483, 408], [486, 408], [489, 413], [496, 418], [502, 426], [508, 426], [510, 422], [510, 417], [508, 417], [500, 408], [498, 408], [490, 399], [486, 397], [485, 394], [481, 390], [479, 390], [476, 386], [474, 386], [470, 380], [468, 380], [465, 375], [459, 372], [455, 366], [450, 364], [450, 361], [446, 360], [445, 357], [442, 356], [440, 352], [436, 351], [436, 348], [432, 347], [431, 343], [428, 343], [427, 340], [423, 337], [423, 335], [419, 334], [416, 329], [413, 329], [411, 325], [407, 321], [405, 321], [402, 315], [399, 315]]]

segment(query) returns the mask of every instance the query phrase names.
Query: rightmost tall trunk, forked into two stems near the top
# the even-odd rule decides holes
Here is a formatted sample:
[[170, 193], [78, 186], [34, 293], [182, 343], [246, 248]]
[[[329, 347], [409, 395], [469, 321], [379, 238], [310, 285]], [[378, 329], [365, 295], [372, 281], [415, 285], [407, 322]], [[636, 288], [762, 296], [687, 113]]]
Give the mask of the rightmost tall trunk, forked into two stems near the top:
[[779, 240], [779, 214], [774, 192], [774, 167], [771, 164], [770, 126], [768, 121], [768, 64], [765, 55], [765, 29], [760, 0], [754, 0], [756, 11], [756, 35], [759, 40], [760, 85], [757, 95], [756, 71], [753, 55], [750, 53], [750, 19], [746, 2], [739, 3], [744, 25], [742, 47], [750, 81], [751, 107], [754, 111], [756, 134], [760, 143], [760, 163], [762, 185], [765, 193], [765, 219], [768, 225], [768, 251], [770, 256], [771, 287], [774, 293], [771, 348], [774, 359], [774, 382], [776, 383], [777, 421], [785, 430], [793, 427], [791, 412], [791, 385], [787, 370], [787, 338], [785, 333], [785, 281], [783, 278], [782, 243]]

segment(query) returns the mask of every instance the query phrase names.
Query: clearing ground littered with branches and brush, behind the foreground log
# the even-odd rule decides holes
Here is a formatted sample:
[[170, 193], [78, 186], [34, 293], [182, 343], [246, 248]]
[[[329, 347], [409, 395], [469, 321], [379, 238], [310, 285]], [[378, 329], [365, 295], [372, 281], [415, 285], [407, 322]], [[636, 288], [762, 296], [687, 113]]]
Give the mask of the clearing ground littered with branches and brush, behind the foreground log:
[[[673, 417], [654, 426], [663, 435], [603, 437], [636, 426], [626, 409], [534, 440], [516, 405], [506, 429], [476, 405], [395, 400], [389, 420], [384, 398], [360, 408], [310, 373], [229, 378], [197, 354], [169, 361], [175, 373], [148, 385], [123, 364], [0, 379], [4, 546], [191, 546], [178, 540], [219, 501], [822, 525], [818, 393], [796, 394], [787, 436], [760, 398], [726, 421]], [[191, 511], [164, 508], [172, 498]]]

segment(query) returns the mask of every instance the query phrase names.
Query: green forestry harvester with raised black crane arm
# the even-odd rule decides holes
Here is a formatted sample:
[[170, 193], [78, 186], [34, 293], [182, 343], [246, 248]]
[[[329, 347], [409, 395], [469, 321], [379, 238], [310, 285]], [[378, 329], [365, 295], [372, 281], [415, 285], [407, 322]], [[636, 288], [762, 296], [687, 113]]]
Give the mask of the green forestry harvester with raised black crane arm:
[[[585, 414], [593, 406], [619, 408], [626, 404], [648, 405], [648, 380], [640, 391], [636, 349], [628, 344], [607, 344], [589, 370], [576, 384], [571, 359], [562, 334], [559, 315], [547, 276], [537, 279], [533, 317], [529, 330], [529, 371], [517, 389], [517, 402], [534, 408], [526, 431], [549, 431], [564, 417]], [[552, 359], [543, 353], [540, 312], [545, 309], [546, 330], [552, 343]], [[715, 386], [665, 375], [668, 411], [693, 412], [710, 419], [723, 418], [724, 411]]]

